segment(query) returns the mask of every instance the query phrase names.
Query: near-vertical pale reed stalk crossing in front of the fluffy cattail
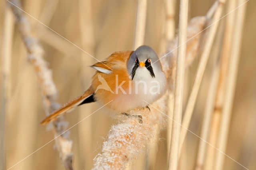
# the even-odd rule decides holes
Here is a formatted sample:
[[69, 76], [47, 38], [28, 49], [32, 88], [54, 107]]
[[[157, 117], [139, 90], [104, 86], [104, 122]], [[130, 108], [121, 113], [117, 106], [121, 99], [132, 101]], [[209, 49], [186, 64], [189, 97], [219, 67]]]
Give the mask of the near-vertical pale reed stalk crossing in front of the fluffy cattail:
[[[172, 136], [170, 142], [170, 154], [168, 169], [178, 169], [178, 151], [179, 151], [179, 136], [180, 123], [182, 120], [182, 97], [184, 87], [184, 75], [186, 67], [186, 35], [188, 23], [188, 0], [180, 0], [180, 15], [179, 15], [179, 33], [178, 33], [178, 52], [176, 59], [176, 79], [174, 88], [174, 111], [173, 120], [176, 122], [172, 125]], [[172, 121], [172, 120], [170, 120]]]

